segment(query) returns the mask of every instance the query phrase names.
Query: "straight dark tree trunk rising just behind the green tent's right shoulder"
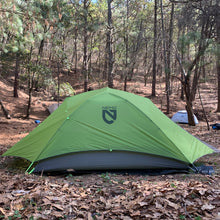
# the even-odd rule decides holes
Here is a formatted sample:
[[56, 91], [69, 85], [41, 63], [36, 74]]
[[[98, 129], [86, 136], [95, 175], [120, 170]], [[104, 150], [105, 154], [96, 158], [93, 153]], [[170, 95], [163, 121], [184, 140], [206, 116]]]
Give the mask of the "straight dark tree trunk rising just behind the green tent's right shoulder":
[[152, 78], [152, 96], [156, 96], [156, 75], [157, 75], [157, 0], [154, 0], [154, 52], [153, 52], [153, 78]]

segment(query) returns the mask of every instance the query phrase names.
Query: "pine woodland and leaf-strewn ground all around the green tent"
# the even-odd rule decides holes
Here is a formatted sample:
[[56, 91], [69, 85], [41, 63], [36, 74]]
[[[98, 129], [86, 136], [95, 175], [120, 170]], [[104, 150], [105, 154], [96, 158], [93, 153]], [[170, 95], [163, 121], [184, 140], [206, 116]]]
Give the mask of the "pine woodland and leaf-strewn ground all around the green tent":
[[[0, 153], [66, 96], [109, 86], [150, 98], [219, 148], [219, 0], [1, 0]], [[10, 118], [10, 119], [9, 119]], [[209, 130], [208, 130], [209, 129]], [[25, 175], [28, 163], [0, 158], [2, 219], [218, 219], [215, 174]]]

